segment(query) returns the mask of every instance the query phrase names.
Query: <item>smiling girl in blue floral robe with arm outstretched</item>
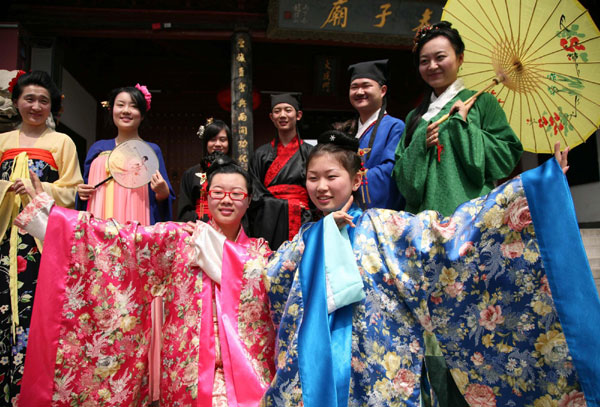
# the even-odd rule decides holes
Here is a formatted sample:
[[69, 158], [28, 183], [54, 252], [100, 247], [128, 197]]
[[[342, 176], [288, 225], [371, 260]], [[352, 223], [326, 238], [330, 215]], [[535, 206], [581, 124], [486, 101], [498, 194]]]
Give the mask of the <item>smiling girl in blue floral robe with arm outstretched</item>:
[[263, 404], [419, 406], [434, 335], [471, 406], [600, 405], [600, 302], [557, 160], [451, 217], [363, 213], [356, 144], [319, 138], [306, 187], [333, 216], [269, 263], [277, 372]]

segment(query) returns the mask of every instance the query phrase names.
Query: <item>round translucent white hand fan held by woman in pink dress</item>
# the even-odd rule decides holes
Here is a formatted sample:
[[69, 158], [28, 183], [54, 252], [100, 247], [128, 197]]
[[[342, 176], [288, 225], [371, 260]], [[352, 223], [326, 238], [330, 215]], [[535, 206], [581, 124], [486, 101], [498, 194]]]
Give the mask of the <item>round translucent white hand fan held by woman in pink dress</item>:
[[108, 156], [110, 177], [125, 188], [138, 188], [150, 182], [158, 170], [158, 157], [152, 147], [142, 140], [127, 140], [119, 144]]

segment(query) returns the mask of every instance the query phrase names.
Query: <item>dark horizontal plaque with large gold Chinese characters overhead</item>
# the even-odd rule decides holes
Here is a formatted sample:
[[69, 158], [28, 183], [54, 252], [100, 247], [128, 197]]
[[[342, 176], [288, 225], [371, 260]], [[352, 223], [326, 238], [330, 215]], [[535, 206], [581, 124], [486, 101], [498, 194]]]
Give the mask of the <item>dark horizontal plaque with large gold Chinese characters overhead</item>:
[[271, 0], [274, 38], [407, 45], [423, 25], [440, 21], [445, 1]]

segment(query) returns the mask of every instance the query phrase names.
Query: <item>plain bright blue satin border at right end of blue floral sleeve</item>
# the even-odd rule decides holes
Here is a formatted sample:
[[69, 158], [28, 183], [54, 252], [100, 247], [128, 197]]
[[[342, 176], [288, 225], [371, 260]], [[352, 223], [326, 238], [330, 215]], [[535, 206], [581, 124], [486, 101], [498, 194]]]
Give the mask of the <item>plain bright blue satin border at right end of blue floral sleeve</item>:
[[[600, 299], [558, 162], [521, 175], [556, 311], [589, 406], [600, 406]], [[549, 188], [551, 186], [551, 188]]]

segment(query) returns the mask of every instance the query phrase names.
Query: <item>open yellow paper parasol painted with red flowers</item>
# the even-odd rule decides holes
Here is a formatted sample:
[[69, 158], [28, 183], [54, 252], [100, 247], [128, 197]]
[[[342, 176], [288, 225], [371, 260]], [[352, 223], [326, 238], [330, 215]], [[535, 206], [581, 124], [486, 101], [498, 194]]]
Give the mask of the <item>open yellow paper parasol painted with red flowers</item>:
[[465, 42], [465, 86], [485, 87], [526, 151], [583, 143], [600, 124], [600, 32], [577, 0], [449, 0]]

